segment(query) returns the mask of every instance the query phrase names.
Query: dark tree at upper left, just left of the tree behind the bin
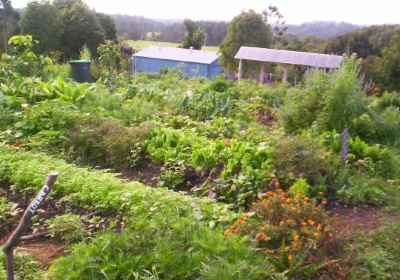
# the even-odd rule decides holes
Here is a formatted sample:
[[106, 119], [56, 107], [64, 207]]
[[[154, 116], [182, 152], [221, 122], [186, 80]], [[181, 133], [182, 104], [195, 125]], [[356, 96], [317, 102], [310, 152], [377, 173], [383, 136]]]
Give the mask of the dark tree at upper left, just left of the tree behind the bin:
[[39, 53], [61, 49], [64, 23], [62, 13], [48, 1], [28, 3], [20, 22], [23, 34], [30, 34], [39, 41]]

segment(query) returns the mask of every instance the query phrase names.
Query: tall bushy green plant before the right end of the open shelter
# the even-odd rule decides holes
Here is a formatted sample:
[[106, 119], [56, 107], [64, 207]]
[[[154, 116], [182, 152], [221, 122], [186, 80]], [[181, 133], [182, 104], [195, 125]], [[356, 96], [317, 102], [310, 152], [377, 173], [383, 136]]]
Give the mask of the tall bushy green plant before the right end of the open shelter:
[[342, 131], [366, 111], [366, 95], [358, 78], [357, 61], [346, 60], [338, 71], [314, 70], [305, 79], [304, 90], [288, 94], [278, 111], [289, 132], [300, 131], [314, 122], [318, 131]]

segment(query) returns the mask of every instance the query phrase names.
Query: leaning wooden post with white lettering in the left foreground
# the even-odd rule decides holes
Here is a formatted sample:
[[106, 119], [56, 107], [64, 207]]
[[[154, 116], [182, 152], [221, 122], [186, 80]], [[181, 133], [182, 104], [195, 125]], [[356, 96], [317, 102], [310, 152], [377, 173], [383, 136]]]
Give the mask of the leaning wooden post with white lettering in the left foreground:
[[3, 247], [3, 251], [6, 255], [6, 269], [7, 269], [7, 280], [14, 280], [14, 253], [13, 249], [16, 247], [26, 230], [28, 229], [29, 222], [32, 216], [35, 214], [36, 210], [40, 208], [43, 202], [46, 200], [47, 195], [50, 193], [58, 177], [58, 172], [50, 173], [47, 176], [47, 180], [37, 194], [35, 199], [26, 208], [24, 215], [22, 216], [21, 222], [19, 223], [17, 229], [8, 238], [6, 244]]

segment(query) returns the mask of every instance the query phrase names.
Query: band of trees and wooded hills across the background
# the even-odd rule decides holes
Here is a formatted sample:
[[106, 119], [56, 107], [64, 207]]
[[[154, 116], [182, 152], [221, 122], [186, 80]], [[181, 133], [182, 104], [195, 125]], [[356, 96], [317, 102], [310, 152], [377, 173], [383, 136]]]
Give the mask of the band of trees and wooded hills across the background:
[[[238, 62], [233, 57], [240, 46], [338, 55], [357, 53], [363, 59], [364, 81], [371, 81], [372, 92], [400, 89], [398, 25], [369, 26], [326, 40], [294, 36], [290, 26], [287, 30], [283, 15], [273, 6], [262, 13], [243, 11], [230, 23], [186, 19], [183, 23], [168, 24], [137, 16], [97, 13], [82, 0], [32, 1], [21, 14], [12, 8], [10, 0], [0, 0], [0, 28], [2, 51], [11, 35], [31, 34], [40, 42], [35, 45], [36, 51], [64, 60], [77, 58], [83, 45], [95, 54], [100, 44], [106, 40], [116, 42], [117, 36], [180, 42], [181, 47], [195, 49], [204, 44], [219, 45], [220, 63], [229, 72], [237, 70]], [[259, 71], [257, 63], [245, 62], [244, 66], [245, 74]], [[274, 65], [268, 67], [269, 72], [279, 70]]]

